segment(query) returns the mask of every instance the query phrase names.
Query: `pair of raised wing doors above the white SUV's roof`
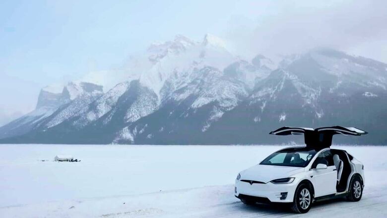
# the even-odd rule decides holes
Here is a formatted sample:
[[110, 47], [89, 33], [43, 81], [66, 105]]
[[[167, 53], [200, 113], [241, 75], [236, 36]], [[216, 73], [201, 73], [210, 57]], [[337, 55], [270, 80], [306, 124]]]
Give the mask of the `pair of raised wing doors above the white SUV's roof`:
[[288, 136], [288, 135], [301, 135], [304, 134], [305, 144], [311, 147], [330, 147], [332, 145], [332, 137], [336, 134], [342, 134], [345, 136], [361, 136], [368, 134], [366, 131], [354, 128], [354, 127], [321, 127], [317, 129], [313, 128], [301, 128], [301, 127], [281, 127], [278, 130], [271, 131], [269, 134]]

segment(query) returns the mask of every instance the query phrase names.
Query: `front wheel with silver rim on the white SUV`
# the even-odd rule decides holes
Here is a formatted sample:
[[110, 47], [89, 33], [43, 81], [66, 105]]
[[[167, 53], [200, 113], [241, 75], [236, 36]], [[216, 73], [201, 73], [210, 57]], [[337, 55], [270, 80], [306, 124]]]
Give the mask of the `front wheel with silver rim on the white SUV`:
[[[305, 190], [308, 191], [308, 195], [305, 195]], [[304, 195], [303, 195], [304, 193]], [[306, 207], [306, 202], [309, 197], [309, 204]], [[292, 211], [298, 214], [305, 214], [307, 213], [312, 206], [312, 201], [313, 201], [313, 194], [312, 194], [312, 188], [310, 185], [303, 183], [300, 184], [294, 193], [294, 199], [293, 199], [293, 204], [292, 204]]]

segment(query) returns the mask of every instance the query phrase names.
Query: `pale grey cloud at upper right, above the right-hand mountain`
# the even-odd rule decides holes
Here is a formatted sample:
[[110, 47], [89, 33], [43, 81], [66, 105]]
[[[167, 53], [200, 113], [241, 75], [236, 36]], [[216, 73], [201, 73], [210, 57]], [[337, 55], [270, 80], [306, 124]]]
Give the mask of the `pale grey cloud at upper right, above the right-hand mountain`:
[[387, 62], [381, 52], [387, 49], [387, 1], [275, 1], [265, 6], [269, 12], [253, 21], [231, 21], [226, 37], [234, 50], [252, 56], [331, 47]]

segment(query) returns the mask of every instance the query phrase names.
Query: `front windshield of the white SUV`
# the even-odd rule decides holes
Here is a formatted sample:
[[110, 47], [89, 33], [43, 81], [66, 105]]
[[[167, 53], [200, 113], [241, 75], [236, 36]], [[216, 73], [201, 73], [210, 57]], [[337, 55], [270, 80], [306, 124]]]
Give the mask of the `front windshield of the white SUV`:
[[260, 164], [306, 167], [316, 152], [315, 149], [309, 147], [285, 148], [270, 154]]

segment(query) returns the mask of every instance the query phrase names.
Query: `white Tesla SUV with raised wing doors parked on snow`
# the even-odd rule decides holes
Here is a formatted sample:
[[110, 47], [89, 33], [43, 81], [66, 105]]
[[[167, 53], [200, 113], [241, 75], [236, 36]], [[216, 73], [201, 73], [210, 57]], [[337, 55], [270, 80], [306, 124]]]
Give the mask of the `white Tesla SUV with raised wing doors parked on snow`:
[[[331, 142], [332, 136], [342, 131], [346, 131], [345, 135], [367, 133], [356, 128], [321, 129], [283, 127], [271, 132], [304, 134], [307, 146], [278, 150], [258, 165], [240, 172], [235, 180], [235, 196], [248, 205], [290, 203], [296, 213], [307, 213], [312, 203], [320, 200], [347, 197], [350, 201], [359, 201], [364, 188], [363, 164], [345, 150], [330, 149], [330, 143], [322, 142], [329, 142], [324, 138], [330, 138]], [[311, 140], [312, 134], [320, 135], [317, 140], [320, 142]]]

